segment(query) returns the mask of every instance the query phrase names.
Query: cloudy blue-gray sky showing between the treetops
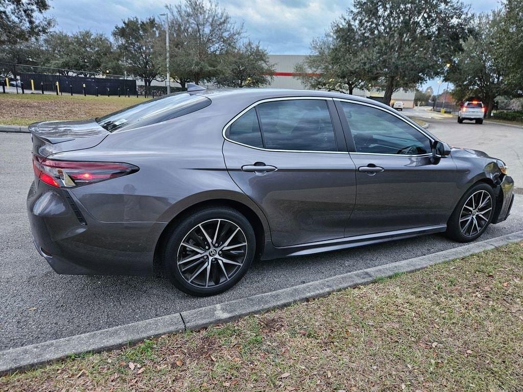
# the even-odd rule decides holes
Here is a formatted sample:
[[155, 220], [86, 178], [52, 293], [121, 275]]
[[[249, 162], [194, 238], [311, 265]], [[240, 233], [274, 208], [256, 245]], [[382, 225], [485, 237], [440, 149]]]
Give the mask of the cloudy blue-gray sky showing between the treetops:
[[[164, 12], [164, 0], [51, 0], [50, 14], [57, 29], [66, 32], [89, 28], [110, 34], [122, 19], [145, 18]], [[469, 3], [465, 0], [465, 3]], [[499, 6], [498, 0], [472, 0], [475, 13]], [[347, 0], [220, 0], [232, 18], [245, 26], [246, 35], [271, 54], [308, 54], [309, 43], [322, 36], [331, 22], [343, 15]], [[437, 84], [430, 83], [437, 89]], [[426, 86], [424, 86], [426, 87]]]

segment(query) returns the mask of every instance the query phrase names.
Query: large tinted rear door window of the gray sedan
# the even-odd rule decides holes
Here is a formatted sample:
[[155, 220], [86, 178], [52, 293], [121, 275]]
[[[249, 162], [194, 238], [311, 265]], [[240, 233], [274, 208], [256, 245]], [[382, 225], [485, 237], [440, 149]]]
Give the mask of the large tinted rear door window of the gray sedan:
[[257, 106], [265, 147], [303, 151], [336, 151], [327, 102], [296, 99]]

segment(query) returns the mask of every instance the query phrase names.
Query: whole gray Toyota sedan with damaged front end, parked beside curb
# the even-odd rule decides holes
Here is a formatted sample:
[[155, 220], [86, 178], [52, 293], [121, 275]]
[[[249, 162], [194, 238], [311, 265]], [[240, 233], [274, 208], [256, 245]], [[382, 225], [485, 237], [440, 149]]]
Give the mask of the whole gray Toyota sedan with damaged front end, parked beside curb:
[[192, 295], [255, 258], [504, 221], [502, 160], [450, 148], [394, 109], [324, 91], [188, 91], [29, 126], [33, 240], [62, 274], [164, 275]]

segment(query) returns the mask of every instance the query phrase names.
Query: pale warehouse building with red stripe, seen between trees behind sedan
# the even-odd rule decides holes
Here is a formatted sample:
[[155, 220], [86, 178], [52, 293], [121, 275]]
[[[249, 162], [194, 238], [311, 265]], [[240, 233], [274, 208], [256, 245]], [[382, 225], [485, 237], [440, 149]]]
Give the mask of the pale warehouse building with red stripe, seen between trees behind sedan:
[[[269, 62], [274, 64], [275, 74], [272, 83], [267, 87], [291, 88], [298, 90], [307, 89], [294, 72], [294, 66], [302, 63], [305, 60], [305, 57], [306, 55], [304, 54], [269, 54]], [[353, 94], [372, 99], [383, 97], [383, 91], [378, 91], [377, 89], [372, 89], [370, 91], [355, 89]], [[415, 92], [413, 90], [400, 89], [392, 95], [392, 100], [403, 101], [405, 108], [413, 108], [414, 94]]]

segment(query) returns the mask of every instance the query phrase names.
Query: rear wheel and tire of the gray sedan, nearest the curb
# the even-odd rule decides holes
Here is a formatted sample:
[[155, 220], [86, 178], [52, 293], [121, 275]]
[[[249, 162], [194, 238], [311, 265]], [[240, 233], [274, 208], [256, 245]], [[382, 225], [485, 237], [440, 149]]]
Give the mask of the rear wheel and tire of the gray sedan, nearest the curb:
[[187, 294], [216, 295], [243, 278], [255, 253], [256, 237], [247, 218], [228, 207], [210, 207], [173, 230], [164, 249], [164, 273]]

